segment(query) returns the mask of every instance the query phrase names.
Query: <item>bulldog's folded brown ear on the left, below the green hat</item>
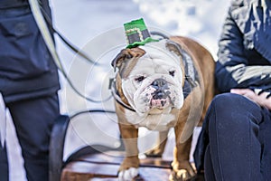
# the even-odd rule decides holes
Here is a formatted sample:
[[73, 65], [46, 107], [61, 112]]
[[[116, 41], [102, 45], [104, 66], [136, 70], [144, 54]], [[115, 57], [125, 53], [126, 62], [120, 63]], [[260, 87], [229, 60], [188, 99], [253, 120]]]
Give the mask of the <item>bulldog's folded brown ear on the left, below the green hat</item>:
[[112, 67], [116, 70], [116, 68], [119, 68], [123, 62], [126, 60], [135, 58], [135, 57], [141, 57], [145, 54], [145, 50], [135, 47], [131, 49], [123, 49], [121, 52], [117, 54], [117, 57], [111, 62]]

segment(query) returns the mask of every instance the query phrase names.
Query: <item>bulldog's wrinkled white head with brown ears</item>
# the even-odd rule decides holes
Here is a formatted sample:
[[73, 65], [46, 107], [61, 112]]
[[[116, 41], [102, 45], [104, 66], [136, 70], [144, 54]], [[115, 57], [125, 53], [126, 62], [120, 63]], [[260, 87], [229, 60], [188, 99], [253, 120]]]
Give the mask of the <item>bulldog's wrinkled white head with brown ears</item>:
[[141, 116], [181, 109], [184, 71], [178, 44], [169, 40], [124, 49], [113, 60], [130, 106]]

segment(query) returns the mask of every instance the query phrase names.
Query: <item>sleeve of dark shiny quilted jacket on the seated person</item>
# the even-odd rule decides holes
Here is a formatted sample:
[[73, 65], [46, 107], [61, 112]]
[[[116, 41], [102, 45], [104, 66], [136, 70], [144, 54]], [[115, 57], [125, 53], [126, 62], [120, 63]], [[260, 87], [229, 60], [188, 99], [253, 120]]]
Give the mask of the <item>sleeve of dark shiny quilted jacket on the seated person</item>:
[[232, 88], [271, 87], [271, 66], [248, 63], [246, 52], [249, 50], [244, 46], [246, 40], [232, 18], [231, 12], [229, 10], [220, 36], [219, 60], [215, 71], [218, 89], [226, 92]]

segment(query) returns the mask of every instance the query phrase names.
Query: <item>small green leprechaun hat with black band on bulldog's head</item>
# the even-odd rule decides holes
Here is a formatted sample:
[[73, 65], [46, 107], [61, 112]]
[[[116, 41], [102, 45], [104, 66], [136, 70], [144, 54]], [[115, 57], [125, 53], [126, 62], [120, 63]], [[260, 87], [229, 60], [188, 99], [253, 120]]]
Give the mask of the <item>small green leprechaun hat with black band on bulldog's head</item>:
[[126, 48], [134, 48], [145, 43], [158, 42], [151, 37], [148, 29], [145, 26], [143, 18], [133, 20], [124, 24], [126, 31], [126, 40], [128, 45]]

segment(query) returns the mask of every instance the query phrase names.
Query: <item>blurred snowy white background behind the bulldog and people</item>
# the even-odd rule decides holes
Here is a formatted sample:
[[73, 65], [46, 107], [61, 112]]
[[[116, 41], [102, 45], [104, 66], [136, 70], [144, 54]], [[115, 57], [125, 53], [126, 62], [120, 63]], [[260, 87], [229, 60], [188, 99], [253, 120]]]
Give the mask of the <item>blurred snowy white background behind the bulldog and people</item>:
[[[102, 66], [86, 62], [56, 36], [57, 51], [70, 81], [82, 94], [94, 100], [107, 100], [109, 78], [114, 77], [110, 62], [126, 46], [123, 24], [144, 18], [149, 31], [188, 36], [204, 45], [217, 59], [218, 39], [229, 0], [51, 0], [53, 24], [70, 43], [75, 44]], [[114, 110], [113, 99], [93, 103], [81, 98], [61, 75], [61, 113], [73, 115], [81, 110]], [[171, 131], [173, 132], [173, 131]], [[64, 159], [88, 144], [117, 147], [117, 118], [114, 114], [83, 114], [70, 122]], [[139, 149], [154, 147], [157, 133], [140, 129]], [[164, 154], [171, 159], [173, 134]], [[148, 141], [146, 141], [146, 139]], [[8, 121], [7, 147], [11, 181], [24, 181], [23, 159]]]

